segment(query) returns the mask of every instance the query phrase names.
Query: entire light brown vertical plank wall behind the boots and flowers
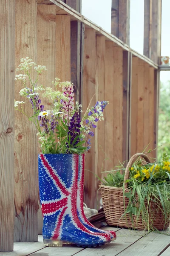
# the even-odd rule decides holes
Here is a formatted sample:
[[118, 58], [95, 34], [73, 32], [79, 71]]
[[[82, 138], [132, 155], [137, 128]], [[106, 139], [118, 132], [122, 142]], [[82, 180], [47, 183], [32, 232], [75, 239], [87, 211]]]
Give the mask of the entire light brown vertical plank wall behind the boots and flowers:
[[[51, 87], [55, 77], [74, 82], [75, 97], [82, 103], [83, 112], [90, 101], [91, 106], [98, 100], [109, 101], [104, 111], [105, 121], [98, 123], [92, 148], [86, 154], [85, 203], [88, 207], [99, 208], [99, 180], [95, 175], [102, 178], [101, 171], [111, 170], [119, 161], [142, 151], [148, 143], [151, 142], [149, 148], [155, 148], [157, 143], [157, 71], [142, 57], [133, 56], [130, 48], [120, 41], [116, 44], [115, 38], [111, 41], [111, 37], [97, 34], [93, 28], [72, 20], [70, 15], [59, 12], [56, 5], [49, 3], [48, 0], [7, 0], [6, 5], [0, 4], [3, 49], [0, 58], [0, 148], [3, 149], [0, 160], [0, 209], [3, 209], [0, 214], [0, 250], [13, 248], [13, 221], [14, 241], [37, 241], [38, 233], [42, 232], [37, 131], [19, 112], [14, 114], [12, 107], [14, 89], [15, 99], [22, 100], [19, 96], [21, 84], [17, 81], [13, 86], [14, 69], [20, 64], [20, 58], [30, 57], [47, 67], [48, 72], [40, 77], [45, 86]], [[79, 11], [77, 1], [67, 0], [66, 3]], [[127, 10], [126, 6], [124, 9]], [[31, 108], [24, 107], [28, 115], [32, 115]], [[14, 211], [11, 207], [13, 199]]]

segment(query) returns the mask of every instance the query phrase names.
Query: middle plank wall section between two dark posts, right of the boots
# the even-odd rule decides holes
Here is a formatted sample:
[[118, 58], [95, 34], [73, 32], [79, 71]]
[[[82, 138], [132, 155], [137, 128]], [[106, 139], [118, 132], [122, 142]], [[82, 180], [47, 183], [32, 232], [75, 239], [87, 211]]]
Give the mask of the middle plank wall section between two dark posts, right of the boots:
[[[93, 99], [92, 99], [93, 98]], [[92, 101], [91, 101], [92, 99]], [[85, 29], [83, 112], [91, 101], [108, 100], [105, 121], [97, 123], [95, 137], [85, 160], [85, 202], [97, 207], [97, 189], [102, 168], [111, 170], [122, 162], [123, 124], [123, 50], [94, 29]], [[94, 175], [95, 174], [95, 175]]]

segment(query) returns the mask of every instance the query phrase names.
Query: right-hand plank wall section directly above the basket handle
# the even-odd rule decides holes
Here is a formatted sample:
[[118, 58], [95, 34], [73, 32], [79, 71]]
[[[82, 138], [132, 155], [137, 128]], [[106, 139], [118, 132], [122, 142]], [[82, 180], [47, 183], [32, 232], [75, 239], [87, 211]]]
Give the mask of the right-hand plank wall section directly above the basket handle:
[[[130, 99], [130, 156], [156, 148], [156, 97], [157, 81], [154, 68], [138, 57], [132, 58]], [[149, 154], [156, 157], [156, 151]]]

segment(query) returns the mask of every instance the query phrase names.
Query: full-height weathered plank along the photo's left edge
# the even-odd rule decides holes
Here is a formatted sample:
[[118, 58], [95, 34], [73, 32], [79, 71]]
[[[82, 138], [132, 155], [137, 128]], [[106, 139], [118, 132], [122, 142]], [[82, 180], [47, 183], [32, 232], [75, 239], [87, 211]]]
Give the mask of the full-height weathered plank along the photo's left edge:
[[13, 250], [15, 1], [0, 1], [0, 251]]

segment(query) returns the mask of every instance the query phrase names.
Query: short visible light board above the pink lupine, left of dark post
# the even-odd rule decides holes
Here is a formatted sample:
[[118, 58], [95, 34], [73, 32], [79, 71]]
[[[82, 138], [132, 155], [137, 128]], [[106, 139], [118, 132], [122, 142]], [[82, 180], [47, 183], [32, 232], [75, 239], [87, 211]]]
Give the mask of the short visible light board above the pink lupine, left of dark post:
[[60, 81], [71, 80], [70, 16], [56, 15], [56, 74]]

